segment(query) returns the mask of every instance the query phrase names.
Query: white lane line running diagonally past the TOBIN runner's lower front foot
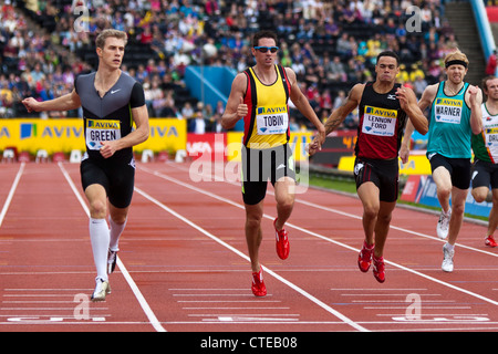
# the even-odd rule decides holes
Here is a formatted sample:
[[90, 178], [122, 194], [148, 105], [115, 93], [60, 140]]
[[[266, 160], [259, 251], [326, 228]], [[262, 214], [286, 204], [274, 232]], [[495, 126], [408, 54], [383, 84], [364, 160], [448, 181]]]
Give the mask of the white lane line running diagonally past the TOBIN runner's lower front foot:
[[[170, 209], [169, 207], [165, 206], [164, 204], [162, 204], [160, 201], [158, 201], [157, 199], [153, 198], [152, 196], [149, 196], [148, 194], [146, 194], [145, 191], [143, 191], [139, 188], [135, 187], [135, 190], [141, 194], [144, 198], [148, 199], [149, 201], [152, 201], [153, 204], [155, 204], [156, 206], [158, 206], [159, 208], [162, 208], [163, 210], [169, 212], [170, 215], [173, 215], [174, 217], [180, 219], [181, 221], [184, 221], [185, 223], [189, 225], [190, 227], [193, 227], [194, 229], [198, 230], [199, 232], [206, 235], [207, 237], [209, 237], [211, 240], [218, 242], [219, 244], [221, 244], [222, 247], [229, 249], [230, 251], [232, 251], [234, 253], [238, 254], [239, 257], [243, 258], [245, 260], [247, 260], [248, 262], [250, 262], [250, 259], [248, 256], [246, 256], [245, 253], [240, 252], [238, 249], [231, 247], [230, 244], [228, 244], [227, 242], [222, 241], [221, 239], [217, 238], [216, 236], [214, 236], [212, 233], [208, 232], [207, 230], [203, 229], [201, 227], [199, 227], [198, 225], [194, 223], [193, 221], [188, 220], [187, 218], [185, 218], [184, 216], [179, 215], [178, 212], [174, 211], [173, 209]], [[324, 302], [320, 301], [319, 299], [314, 298], [313, 295], [311, 295], [310, 293], [308, 293], [307, 291], [304, 291], [303, 289], [299, 288], [298, 285], [293, 284], [292, 282], [288, 281], [287, 279], [280, 277], [279, 274], [277, 274], [276, 272], [273, 272], [272, 270], [270, 270], [269, 268], [262, 266], [262, 268], [264, 269], [264, 271], [269, 274], [271, 274], [273, 278], [280, 280], [282, 283], [284, 283], [286, 285], [288, 285], [289, 288], [293, 289], [294, 291], [299, 292], [300, 294], [302, 294], [303, 296], [305, 296], [307, 299], [311, 300], [312, 302], [314, 302], [315, 304], [318, 304], [319, 306], [321, 306], [322, 309], [324, 309], [325, 311], [328, 311], [329, 313], [333, 314], [334, 316], [339, 317], [340, 320], [342, 320], [344, 323], [351, 325], [352, 327], [356, 329], [357, 331], [362, 331], [362, 332], [367, 332], [366, 329], [364, 329], [363, 326], [359, 325], [357, 323], [355, 323], [354, 321], [352, 321], [351, 319], [346, 317], [345, 315], [343, 315], [342, 313], [340, 313], [339, 311], [332, 309], [331, 306], [329, 306], [328, 304], [325, 304]]]

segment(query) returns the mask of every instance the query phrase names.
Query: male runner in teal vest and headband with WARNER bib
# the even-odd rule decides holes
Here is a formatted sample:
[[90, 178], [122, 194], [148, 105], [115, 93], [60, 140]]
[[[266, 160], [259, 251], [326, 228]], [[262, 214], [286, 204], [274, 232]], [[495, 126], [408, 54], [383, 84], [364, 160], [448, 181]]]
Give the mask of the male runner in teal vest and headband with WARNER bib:
[[[477, 86], [464, 82], [468, 71], [464, 53], [457, 50], [446, 55], [445, 67], [447, 80], [427, 86], [418, 106], [422, 111], [430, 106], [427, 158], [443, 209], [436, 231], [440, 239], [448, 239], [443, 247], [442, 269], [453, 272], [454, 247], [464, 221], [470, 186], [470, 139], [473, 133], [478, 134], [483, 127], [483, 94]], [[412, 133], [413, 126], [408, 123], [400, 150], [403, 163], [408, 160]]]

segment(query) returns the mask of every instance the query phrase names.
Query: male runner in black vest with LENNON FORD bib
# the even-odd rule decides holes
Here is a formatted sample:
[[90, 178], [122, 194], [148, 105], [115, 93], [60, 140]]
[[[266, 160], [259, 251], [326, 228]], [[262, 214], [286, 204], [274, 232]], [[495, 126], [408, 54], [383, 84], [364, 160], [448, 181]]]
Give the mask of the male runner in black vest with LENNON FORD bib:
[[[362, 272], [366, 272], [373, 261], [373, 274], [381, 283], [385, 281], [384, 246], [397, 200], [398, 150], [403, 129], [407, 117], [422, 134], [428, 128], [413, 90], [396, 84], [398, 72], [396, 53], [380, 53], [375, 81], [354, 85], [345, 103], [332, 112], [325, 122], [325, 134], [330, 134], [359, 107], [354, 177], [363, 204], [365, 240], [357, 264]], [[318, 144], [312, 142], [309, 153], [313, 155], [317, 147]]]

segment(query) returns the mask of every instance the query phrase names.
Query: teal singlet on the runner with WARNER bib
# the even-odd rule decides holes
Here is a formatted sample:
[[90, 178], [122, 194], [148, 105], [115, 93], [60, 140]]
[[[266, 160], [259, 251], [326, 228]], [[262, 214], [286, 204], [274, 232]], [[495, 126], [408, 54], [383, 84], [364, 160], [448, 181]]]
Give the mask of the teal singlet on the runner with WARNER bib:
[[445, 83], [439, 83], [430, 107], [427, 156], [439, 154], [448, 158], [470, 158], [470, 108], [464, 98], [468, 83], [455, 96], [445, 95]]

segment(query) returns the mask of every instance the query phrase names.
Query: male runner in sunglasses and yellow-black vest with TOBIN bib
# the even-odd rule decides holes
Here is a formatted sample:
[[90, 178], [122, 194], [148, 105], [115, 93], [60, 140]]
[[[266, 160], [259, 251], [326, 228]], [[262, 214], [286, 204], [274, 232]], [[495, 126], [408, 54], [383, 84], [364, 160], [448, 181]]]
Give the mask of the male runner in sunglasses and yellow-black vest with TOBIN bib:
[[295, 173], [289, 142], [289, 98], [317, 127], [320, 144], [324, 142], [323, 124], [299, 88], [295, 73], [276, 65], [277, 35], [261, 31], [252, 39], [256, 65], [239, 73], [232, 83], [221, 124], [229, 129], [243, 118], [242, 197], [246, 207], [246, 239], [252, 268], [252, 293], [264, 296], [267, 290], [259, 263], [262, 239], [261, 219], [267, 181], [274, 186], [277, 218], [273, 227], [277, 253], [289, 257], [288, 233], [283, 225], [294, 205]]

